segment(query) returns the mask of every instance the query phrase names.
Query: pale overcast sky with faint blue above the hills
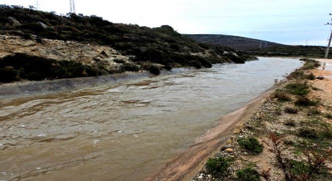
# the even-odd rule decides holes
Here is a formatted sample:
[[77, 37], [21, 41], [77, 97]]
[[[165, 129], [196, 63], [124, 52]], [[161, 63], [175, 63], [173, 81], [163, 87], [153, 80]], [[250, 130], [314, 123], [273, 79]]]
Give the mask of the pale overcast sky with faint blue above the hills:
[[[35, 6], [34, 0], [0, 4]], [[41, 11], [70, 11], [69, 0], [39, 0]], [[331, 0], [74, 0], [76, 14], [96, 15], [113, 23], [159, 27], [184, 34], [224, 34], [287, 45], [326, 46]]]

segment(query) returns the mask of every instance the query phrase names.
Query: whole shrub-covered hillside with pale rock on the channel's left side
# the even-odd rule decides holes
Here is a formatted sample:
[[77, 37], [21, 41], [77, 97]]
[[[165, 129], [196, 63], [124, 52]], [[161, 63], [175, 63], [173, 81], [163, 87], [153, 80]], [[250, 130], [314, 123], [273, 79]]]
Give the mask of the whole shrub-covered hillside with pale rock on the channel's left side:
[[139, 70], [158, 74], [162, 68], [255, 59], [227, 46], [198, 43], [168, 25], [148, 28], [7, 5], [0, 5], [0, 20], [0, 82]]

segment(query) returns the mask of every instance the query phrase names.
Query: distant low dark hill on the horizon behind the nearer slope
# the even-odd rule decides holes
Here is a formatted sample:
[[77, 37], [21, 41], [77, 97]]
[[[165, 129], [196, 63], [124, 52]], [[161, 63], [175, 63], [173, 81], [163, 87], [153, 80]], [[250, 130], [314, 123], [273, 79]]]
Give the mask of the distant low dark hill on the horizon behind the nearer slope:
[[208, 44], [220, 44], [234, 48], [235, 50], [247, 50], [255, 48], [267, 48], [276, 46], [285, 46], [284, 44], [258, 40], [253, 38], [245, 38], [231, 35], [212, 35], [212, 34], [184, 34], [198, 42]]

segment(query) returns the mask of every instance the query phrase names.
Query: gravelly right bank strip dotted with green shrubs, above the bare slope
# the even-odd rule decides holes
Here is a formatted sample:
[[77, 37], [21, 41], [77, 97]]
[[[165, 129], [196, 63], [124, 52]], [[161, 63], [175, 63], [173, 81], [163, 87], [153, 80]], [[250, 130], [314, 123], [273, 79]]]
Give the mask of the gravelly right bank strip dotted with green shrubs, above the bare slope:
[[187, 180], [331, 180], [332, 71], [317, 66], [306, 59]]

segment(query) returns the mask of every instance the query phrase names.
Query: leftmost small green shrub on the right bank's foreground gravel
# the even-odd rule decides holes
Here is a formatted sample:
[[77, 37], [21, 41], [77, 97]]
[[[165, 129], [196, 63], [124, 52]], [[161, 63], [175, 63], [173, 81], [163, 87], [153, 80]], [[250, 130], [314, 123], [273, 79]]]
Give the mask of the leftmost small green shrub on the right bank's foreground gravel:
[[207, 171], [210, 173], [218, 173], [225, 176], [228, 173], [228, 167], [232, 159], [229, 157], [215, 157], [209, 158], [206, 162]]

